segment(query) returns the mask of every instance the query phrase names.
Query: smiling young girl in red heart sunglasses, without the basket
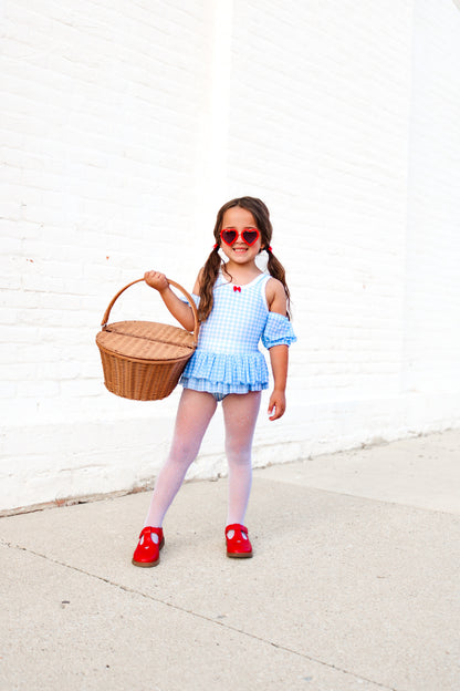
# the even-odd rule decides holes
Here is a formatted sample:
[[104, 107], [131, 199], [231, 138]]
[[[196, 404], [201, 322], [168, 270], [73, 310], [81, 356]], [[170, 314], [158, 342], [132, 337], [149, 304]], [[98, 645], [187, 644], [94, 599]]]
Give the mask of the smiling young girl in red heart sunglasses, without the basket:
[[[222, 401], [229, 466], [227, 555], [252, 556], [244, 515], [252, 481], [252, 437], [261, 391], [269, 384], [265, 359], [258, 343], [262, 339], [270, 350], [274, 389], [269, 415], [270, 420], [278, 420], [285, 411], [288, 347], [296, 340], [289, 320], [290, 293], [284, 269], [273, 255], [271, 237], [269, 210], [260, 199], [232, 199], [217, 215], [216, 244], [194, 288], [201, 322], [198, 347], [181, 378], [184, 391], [172, 443], [134, 553], [135, 566], [158, 564], [165, 544], [161, 527], [165, 514], [198, 455], [219, 401]], [[221, 260], [219, 250], [227, 262]], [[255, 265], [262, 250], [269, 256], [270, 275]], [[171, 291], [165, 275], [147, 271], [145, 280], [158, 290], [182, 327], [191, 331], [191, 307]]]

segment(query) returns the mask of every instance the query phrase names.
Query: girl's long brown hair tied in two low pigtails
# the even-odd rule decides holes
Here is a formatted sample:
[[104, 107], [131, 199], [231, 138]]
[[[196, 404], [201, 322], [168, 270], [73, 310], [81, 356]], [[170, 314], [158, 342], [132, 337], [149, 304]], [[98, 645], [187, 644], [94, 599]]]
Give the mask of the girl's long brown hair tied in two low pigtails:
[[255, 197], [239, 197], [237, 199], [232, 199], [231, 202], [227, 202], [227, 204], [224, 204], [217, 214], [216, 226], [213, 230], [216, 245], [211, 254], [209, 255], [200, 276], [200, 306], [198, 309], [198, 316], [200, 321], [205, 321], [205, 319], [209, 317], [209, 313], [212, 309], [212, 289], [218, 277], [219, 269], [223, 264], [219, 255], [220, 230], [222, 228], [223, 214], [234, 206], [244, 208], [248, 212], [251, 212], [251, 214], [253, 215], [261, 236], [261, 247], [262, 249], [265, 249], [269, 255], [266, 268], [270, 276], [273, 276], [273, 278], [278, 278], [278, 280], [283, 283], [288, 299], [288, 316], [291, 317], [290, 292], [285, 280], [284, 267], [281, 261], [279, 261], [273, 255], [272, 248], [270, 247], [273, 227], [270, 220], [269, 209], [261, 199], [258, 199]]

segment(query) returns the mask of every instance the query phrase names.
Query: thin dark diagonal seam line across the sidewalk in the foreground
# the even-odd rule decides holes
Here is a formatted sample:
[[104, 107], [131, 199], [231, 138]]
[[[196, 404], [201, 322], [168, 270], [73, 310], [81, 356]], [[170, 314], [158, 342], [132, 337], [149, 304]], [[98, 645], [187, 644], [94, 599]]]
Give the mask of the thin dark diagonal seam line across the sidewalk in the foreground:
[[145, 598], [147, 600], [150, 600], [153, 602], [157, 602], [159, 605], [164, 605], [166, 607], [170, 607], [171, 609], [175, 609], [176, 611], [179, 612], [184, 612], [187, 615], [191, 615], [192, 617], [198, 617], [199, 619], [203, 620], [203, 621], [208, 621], [209, 623], [213, 623], [217, 626], [222, 627], [223, 629], [228, 630], [228, 631], [233, 631], [236, 633], [240, 633], [242, 636], [245, 636], [248, 638], [252, 638], [253, 640], [258, 640], [262, 643], [269, 644], [269, 646], [273, 646], [273, 648], [278, 648], [279, 650], [284, 650], [285, 652], [289, 652], [291, 654], [295, 654], [300, 658], [304, 658], [306, 660], [310, 660], [311, 662], [316, 662], [317, 664], [323, 664], [324, 667], [327, 667], [330, 669], [333, 669], [337, 672], [342, 672], [343, 674], [349, 674], [351, 677], [354, 677], [357, 680], [363, 680], [366, 681], [367, 683], [372, 683], [375, 684], [376, 687], [384, 689], [385, 691], [398, 691], [398, 689], [396, 689], [395, 687], [386, 687], [385, 684], [378, 682], [378, 681], [374, 681], [372, 679], [367, 679], [366, 677], [362, 677], [360, 674], [356, 674], [355, 672], [351, 672], [348, 670], [345, 669], [341, 669], [339, 667], [336, 667], [335, 664], [333, 664], [332, 662], [324, 662], [323, 660], [318, 660], [317, 658], [313, 658], [312, 656], [309, 656], [304, 652], [299, 652], [297, 650], [292, 650], [291, 648], [288, 648], [285, 646], [279, 644], [279, 643], [274, 643], [273, 641], [266, 640], [264, 638], [261, 638], [260, 636], [257, 636], [254, 633], [250, 633], [248, 631], [243, 631], [241, 629], [237, 629], [236, 627], [226, 625], [223, 621], [216, 621], [216, 619], [211, 619], [210, 617], [207, 617], [206, 615], [200, 615], [199, 612], [195, 612], [192, 610], [186, 609], [184, 607], [180, 607], [179, 605], [175, 605], [172, 602], [166, 602], [165, 600], [161, 600], [159, 598], [155, 598], [151, 595], [147, 595], [145, 592], [140, 592], [139, 590], [135, 590], [134, 588], [130, 588], [128, 586], [124, 586], [122, 584], [117, 584], [114, 582], [112, 580], [109, 580], [108, 578], [104, 578], [103, 576], [97, 576], [96, 574], [91, 574], [88, 571], [85, 571], [84, 569], [77, 567], [77, 566], [71, 566], [70, 564], [65, 564], [64, 561], [59, 561], [58, 559], [54, 559], [52, 557], [49, 557], [46, 555], [40, 554], [39, 551], [34, 551], [33, 549], [29, 549], [28, 547], [21, 547], [21, 545], [17, 545], [13, 543], [8, 543], [6, 542], [3, 538], [0, 538], [0, 544], [4, 545], [6, 547], [9, 547], [10, 549], [20, 549], [21, 551], [25, 551], [28, 554], [34, 555], [35, 557], [40, 557], [41, 559], [44, 559], [45, 561], [50, 561], [52, 564], [56, 564], [58, 566], [62, 566], [64, 568], [70, 569], [71, 571], [76, 571], [79, 574], [83, 574], [84, 576], [87, 576], [88, 578], [95, 578], [96, 580], [100, 580], [102, 582], [105, 582], [114, 588], [118, 588], [121, 590], [124, 590], [125, 592], [129, 592], [132, 595], [137, 595], [140, 596], [142, 598]]

